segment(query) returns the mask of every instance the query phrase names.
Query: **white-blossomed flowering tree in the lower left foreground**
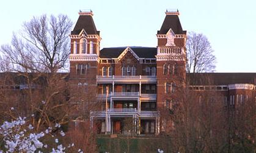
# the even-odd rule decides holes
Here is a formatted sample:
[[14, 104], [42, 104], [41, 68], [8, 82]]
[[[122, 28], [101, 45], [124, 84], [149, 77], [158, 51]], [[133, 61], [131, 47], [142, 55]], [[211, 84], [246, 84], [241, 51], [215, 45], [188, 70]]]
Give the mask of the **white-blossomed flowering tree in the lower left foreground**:
[[[52, 153], [61, 153], [71, 151], [71, 148], [75, 146], [73, 143], [68, 144], [67, 147], [59, 143], [59, 139], [56, 138], [56, 135], [52, 135], [53, 129], [60, 128], [60, 124], [56, 124], [54, 127], [48, 127], [44, 132], [33, 133], [32, 130], [34, 127], [29, 124], [26, 124], [26, 118], [17, 118], [14, 121], [8, 122], [5, 121], [0, 127], [0, 153], [4, 152], [40, 152], [48, 150]], [[61, 130], [59, 134], [64, 137], [65, 133]], [[51, 135], [54, 138], [55, 148], [53, 147], [51, 151], [48, 149], [48, 146], [52, 146], [46, 143], [43, 143], [42, 138], [46, 135]], [[2, 143], [4, 145], [2, 145]], [[1, 148], [4, 146], [4, 148]], [[3, 150], [1, 150], [3, 149]], [[72, 150], [72, 152], [74, 152]], [[79, 153], [82, 153], [81, 149], [78, 149]]]

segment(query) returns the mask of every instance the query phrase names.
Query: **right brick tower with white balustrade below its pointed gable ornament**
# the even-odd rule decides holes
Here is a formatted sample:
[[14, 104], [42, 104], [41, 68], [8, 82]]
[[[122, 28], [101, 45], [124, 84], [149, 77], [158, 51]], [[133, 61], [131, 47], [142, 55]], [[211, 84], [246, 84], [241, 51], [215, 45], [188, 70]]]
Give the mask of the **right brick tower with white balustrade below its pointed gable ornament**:
[[157, 105], [172, 107], [177, 101], [178, 88], [186, 79], [186, 31], [182, 29], [178, 10], [166, 10], [166, 18], [158, 30]]

